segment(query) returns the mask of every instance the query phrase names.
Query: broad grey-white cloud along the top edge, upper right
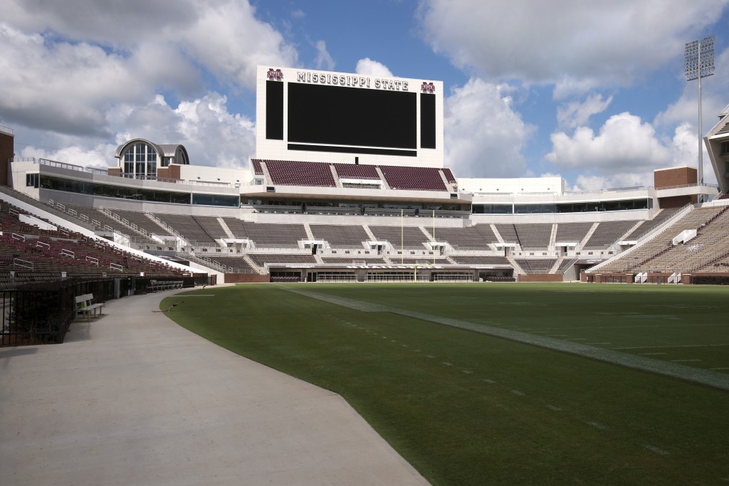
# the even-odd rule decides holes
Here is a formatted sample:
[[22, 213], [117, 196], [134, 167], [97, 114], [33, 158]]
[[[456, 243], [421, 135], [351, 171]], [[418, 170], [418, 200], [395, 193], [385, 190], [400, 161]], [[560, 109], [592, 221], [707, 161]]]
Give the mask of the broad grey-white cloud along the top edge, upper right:
[[[727, 0], [422, 0], [421, 35], [459, 68], [553, 83], [555, 96], [630, 85], [682, 52]], [[656, 49], [656, 46], [661, 46]]]

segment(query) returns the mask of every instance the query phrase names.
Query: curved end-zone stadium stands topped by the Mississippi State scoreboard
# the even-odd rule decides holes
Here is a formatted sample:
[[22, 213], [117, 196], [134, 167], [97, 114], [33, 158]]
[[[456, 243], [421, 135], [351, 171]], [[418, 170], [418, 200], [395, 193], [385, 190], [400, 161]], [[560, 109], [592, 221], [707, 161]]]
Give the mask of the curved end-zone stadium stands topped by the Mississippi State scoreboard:
[[726, 114], [705, 138], [718, 190], [682, 167], [645, 187], [569, 191], [555, 177], [457, 177], [444, 164], [442, 82], [259, 66], [249, 167], [195, 165], [181, 141], [145, 138], [120, 145], [109, 168], [25, 160], [6, 129], [0, 173], [13, 191], [0, 197], [231, 282], [676, 281], [729, 267], [702, 249], [727, 248], [728, 235], [675, 244], [706, 255], [692, 267], [629, 255], [688, 213], [696, 228], [680, 232], [729, 224], [727, 201], [696, 204], [729, 189]]

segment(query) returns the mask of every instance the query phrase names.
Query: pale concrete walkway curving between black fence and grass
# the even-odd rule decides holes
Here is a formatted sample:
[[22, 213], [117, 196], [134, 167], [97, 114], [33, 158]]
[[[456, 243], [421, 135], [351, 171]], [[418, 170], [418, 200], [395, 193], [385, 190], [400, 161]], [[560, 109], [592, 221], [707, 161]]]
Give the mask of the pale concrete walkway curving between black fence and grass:
[[176, 292], [0, 348], [0, 485], [427, 484], [340, 396], [152, 312]]

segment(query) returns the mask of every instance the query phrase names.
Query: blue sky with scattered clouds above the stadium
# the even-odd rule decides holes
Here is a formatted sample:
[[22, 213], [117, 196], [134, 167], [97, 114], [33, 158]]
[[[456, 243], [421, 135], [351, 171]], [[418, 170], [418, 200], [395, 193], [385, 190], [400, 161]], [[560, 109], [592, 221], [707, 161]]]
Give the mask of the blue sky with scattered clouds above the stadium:
[[195, 165], [249, 168], [259, 64], [432, 79], [456, 177], [650, 186], [655, 169], [698, 162], [686, 42], [715, 36], [703, 133], [729, 104], [728, 5], [0, 0], [0, 125], [16, 157], [106, 167], [139, 137], [183, 144]]

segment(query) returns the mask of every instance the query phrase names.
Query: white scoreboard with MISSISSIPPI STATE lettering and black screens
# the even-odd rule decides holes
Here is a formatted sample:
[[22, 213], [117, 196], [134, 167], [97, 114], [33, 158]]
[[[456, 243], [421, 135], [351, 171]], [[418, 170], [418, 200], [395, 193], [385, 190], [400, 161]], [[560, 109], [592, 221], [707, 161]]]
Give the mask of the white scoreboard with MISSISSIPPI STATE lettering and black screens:
[[266, 66], [257, 75], [257, 158], [443, 167], [442, 82]]

